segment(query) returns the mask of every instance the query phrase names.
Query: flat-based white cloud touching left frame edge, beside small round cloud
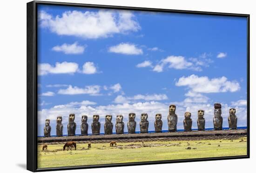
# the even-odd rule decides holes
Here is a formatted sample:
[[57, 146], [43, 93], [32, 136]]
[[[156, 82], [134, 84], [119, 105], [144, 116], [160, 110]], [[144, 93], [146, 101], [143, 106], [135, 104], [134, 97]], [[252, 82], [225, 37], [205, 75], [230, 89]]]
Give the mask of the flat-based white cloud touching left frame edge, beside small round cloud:
[[38, 67], [38, 74], [39, 75], [45, 75], [48, 73], [75, 73], [78, 71], [78, 64], [74, 62], [56, 62], [55, 67], [48, 64], [48, 63], [42, 63], [39, 64]]

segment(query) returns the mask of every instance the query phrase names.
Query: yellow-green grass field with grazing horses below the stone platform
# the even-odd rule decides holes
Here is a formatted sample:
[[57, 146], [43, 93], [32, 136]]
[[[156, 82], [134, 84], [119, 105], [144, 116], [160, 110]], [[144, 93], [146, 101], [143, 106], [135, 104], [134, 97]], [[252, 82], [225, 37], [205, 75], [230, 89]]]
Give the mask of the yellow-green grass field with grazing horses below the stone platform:
[[[77, 150], [72, 151], [63, 151], [64, 143], [48, 145], [48, 149], [42, 151], [40, 144], [38, 145], [38, 168], [241, 156], [247, 155], [246, 140], [241, 138], [238, 140], [154, 141], [144, 142], [144, 144], [130, 142], [117, 143], [117, 147], [98, 143], [92, 144], [89, 150], [82, 150], [87, 148], [87, 144], [84, 143], [77, 144]], [[186, 149], [188, 147], [191, 149]]]

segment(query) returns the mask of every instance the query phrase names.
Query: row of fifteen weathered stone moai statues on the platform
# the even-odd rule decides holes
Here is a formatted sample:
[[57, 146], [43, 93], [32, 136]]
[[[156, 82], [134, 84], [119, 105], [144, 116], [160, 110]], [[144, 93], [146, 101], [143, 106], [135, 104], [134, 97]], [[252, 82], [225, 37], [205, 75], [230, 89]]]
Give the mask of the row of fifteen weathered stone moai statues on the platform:
[[[214, 130], [222, 130], [222, 106], [219, 103], [214, 104], [214, 118], [213, 118], [213, 125]], [[168, 114], [168, 131], [169, 132], [176, 132], [177, 131], [177, 121], [178, 116], [175, 114], [176, 106], [170, 105], [169, 106], [169, 114]], [[205, 130], [205, 119], [204, 116], [204, 110], [198, 110], [198, 119], [197, 119], [197, 127], [199, 131]], [[191, 119], [191, 113], [186, 112], [184, 114], [185, 119], [183, 120], [184, 125], [184, 131], [192, 131], [192, 119]], [[128, 115], [129, 120], [127, 123], [128, 127], [128, 133], [135, 133], [136, 129], [136, 121], [135, 121], [135, 113], [129, 113]], [[68, 136], [74, 136], [75, 130], [76, 130], [76, 123], [74, 122], [75, 114], [71, 113], [69, 114], [68, 118], [68, 124], [67, 124], [67, 135]], [[93, 134], [100, 134], [101, 129], [101, 123], [99, 122], [100, 116], [99, 115], [93, 115], [93, 123], [91, 124], [92, 133]], [[81, 118], [81, 135], [88, 135], [88, 123], [87, 123], [88, 117], [86, 115], [82, 115]], [[56, 125], [56, 136], [63, 136], [63, 125], [61, 124], [62, 117], [57, 117], [57, 125]], [[112, 121], [112, 115], [106, 115], [105, 116], [105, 124], [104, 124], [104, 132], [105, 134], [112, 134], [113, 133], [113, 123]], [[229, 109], [229, 129], [236, 129], [237, 128], [237, 117], [236, 117], [236, 109], [230, 108]], [[156, 133], [162, 133], [162, 114], [157, 113], [155, 115], [155, 132]], [[148, 133], [148, 114], [142, 113], [141, 114], [141, 121], [140, 121], [140, 132], [141, 133]], [[116, 134], [123, 134], [124, 133], [124, 122], [123, 122], [123, 116], [117, 115], [116, 116], [116, 122], [115, 122], [115, 131]], [[50, 120], [47, 119], [45, 121], [45, 127], [44, 127], [44, 136], [50, 137], [51, 133], [51, 126], [50, 126]]]

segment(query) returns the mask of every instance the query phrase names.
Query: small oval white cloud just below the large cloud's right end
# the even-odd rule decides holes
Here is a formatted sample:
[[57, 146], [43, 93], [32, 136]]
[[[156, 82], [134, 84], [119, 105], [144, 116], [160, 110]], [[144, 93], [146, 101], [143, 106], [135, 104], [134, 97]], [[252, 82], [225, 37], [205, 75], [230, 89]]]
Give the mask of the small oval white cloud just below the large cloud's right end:
[[136, 47], [135, 44], [120, 43], [119, 45], [109, 47], [108, 52], [121, 53], [127, 55], [139, 55], [143, 54], [141, 48]]

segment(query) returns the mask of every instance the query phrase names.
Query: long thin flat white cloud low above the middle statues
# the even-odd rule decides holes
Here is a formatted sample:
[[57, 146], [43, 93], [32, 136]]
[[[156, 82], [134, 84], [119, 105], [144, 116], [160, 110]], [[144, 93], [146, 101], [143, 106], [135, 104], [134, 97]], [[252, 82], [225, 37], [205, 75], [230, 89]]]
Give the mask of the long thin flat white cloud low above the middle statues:
[[167, 100], [168, 97], [165, 94], [147, 94], [147, 95], [142, 95], [142, 94], [137, 94], [133, 97], [124, 97], [122, 95], [118, 95], [114, 102], [115, 103], [131, 103], [131, 102], [135, 102], [135, 100], [146, 100], [146, 101], [150, 101], [150, 100]]

